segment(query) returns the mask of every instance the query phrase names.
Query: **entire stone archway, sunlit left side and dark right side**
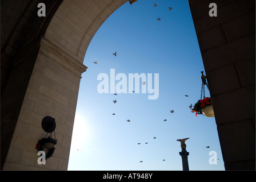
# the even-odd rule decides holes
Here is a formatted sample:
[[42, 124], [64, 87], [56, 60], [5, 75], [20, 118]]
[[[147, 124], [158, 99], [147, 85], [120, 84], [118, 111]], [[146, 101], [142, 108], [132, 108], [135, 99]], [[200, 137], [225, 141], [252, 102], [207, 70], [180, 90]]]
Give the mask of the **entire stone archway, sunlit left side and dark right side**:
[[[37, 12], [39, 1], [33, 1], [33, 5], [24, 1], [25, 8], [14, 14], [18, 20], [9, 26], [8, 22], [2, 23], [1, 151], [5, 151], [1, 152], [2, 169], [67, 169], [79, 82], [87, 69], [83, 65], [86, 49], [101, 24], [126, 2], [49, 0], [45, 1], [49, 14], [38, 18], [33, 13]], [[189, 1], [225, 168], [255, 169], [255, 1], [213, 2], [218, 5], [217, 17], [209, 16], [209, 2]], [[18, 9], [15, 3], [1, 2], [1, 22], [10, 16], [12, 5]], [[239, 13], [234, 12], [238, 7]], [[234, 32], [234, 27], [239, 31]], [[13, 30], [11, 34], [8, 28]], [[36, 33], [31, 35], [31, 32]], [[25, 39], [17, 46], [22, 34]], [[2, 88], [4, 66], [7, 73]], [[223, 77], [228, 81], [223, 81]], [[18, 78], [23, 78], [27, 85]], [[11, 95], [17, 93], [17, 83], [23, 88], [15, 95], [18, 106]], [[223, 113], [230, 105], [237, 106]], [[13, 106], [15, 109], [11, 109]], [[54, 156], [40, 166], [35, 144], [45, 137], [41, 121], [46, 115], [57, 122], [58, 144]], [[3, 138], [6, 142], [2, 144]]]

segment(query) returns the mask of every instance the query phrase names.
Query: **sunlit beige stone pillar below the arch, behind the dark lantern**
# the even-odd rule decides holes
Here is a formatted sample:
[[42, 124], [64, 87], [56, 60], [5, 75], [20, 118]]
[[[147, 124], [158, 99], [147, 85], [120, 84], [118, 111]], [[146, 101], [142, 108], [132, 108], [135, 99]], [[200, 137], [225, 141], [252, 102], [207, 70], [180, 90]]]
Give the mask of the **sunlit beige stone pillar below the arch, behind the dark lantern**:
[[[3, 170], [67, 170], [79, 84], [86, 69], [68, 50], [41, 39]], [[41, 125], [46, 116], [55, 118], [58, 143], [46, 164], [38, 164], [35, 147], [46, 135]]]

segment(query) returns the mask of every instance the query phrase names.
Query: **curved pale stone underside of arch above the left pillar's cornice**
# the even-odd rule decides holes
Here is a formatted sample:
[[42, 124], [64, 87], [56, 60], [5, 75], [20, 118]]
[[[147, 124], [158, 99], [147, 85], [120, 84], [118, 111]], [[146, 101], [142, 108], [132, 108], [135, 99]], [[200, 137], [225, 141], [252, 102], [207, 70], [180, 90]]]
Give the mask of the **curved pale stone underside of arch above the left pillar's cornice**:
[[45, 39], [83, 63], [86, 49], [98, 28], [125, 2], [63, 1], [47, 28]]

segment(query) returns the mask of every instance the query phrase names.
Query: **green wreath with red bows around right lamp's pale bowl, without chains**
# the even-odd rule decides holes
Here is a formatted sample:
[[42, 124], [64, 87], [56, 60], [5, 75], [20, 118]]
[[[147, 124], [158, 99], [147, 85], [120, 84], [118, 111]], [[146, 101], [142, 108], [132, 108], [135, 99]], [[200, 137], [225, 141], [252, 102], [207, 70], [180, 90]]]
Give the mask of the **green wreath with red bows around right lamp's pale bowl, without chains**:
[[206, 117], [214, 117], [213, 112], [213, 105], [211, 104], [211, 97], [206, 97], [201, 100], [198, 100], [197, 103], [195, 103], [192, 112], [197, 114], [203, 114]]

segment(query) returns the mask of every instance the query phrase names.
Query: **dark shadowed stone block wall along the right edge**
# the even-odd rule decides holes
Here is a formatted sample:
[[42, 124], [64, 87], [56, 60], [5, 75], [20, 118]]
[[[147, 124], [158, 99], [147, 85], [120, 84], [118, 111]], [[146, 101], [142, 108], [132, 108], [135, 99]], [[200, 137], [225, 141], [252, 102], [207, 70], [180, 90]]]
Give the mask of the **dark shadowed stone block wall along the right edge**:
[[[209, 16], [209, 4], [217, 16]], [[190, 0], [227, 170], [255, 170], [255, 1]]]

